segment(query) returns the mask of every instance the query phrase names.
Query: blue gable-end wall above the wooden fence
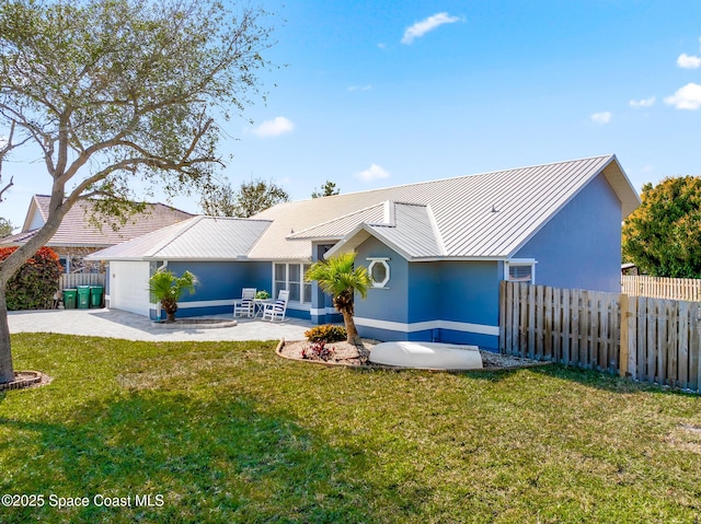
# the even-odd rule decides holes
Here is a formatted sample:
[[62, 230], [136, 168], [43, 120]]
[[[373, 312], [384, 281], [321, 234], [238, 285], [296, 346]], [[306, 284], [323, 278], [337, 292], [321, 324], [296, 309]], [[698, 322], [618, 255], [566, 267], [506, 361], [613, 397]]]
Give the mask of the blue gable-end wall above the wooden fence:
[[515, 258], [535, 258], [536, 283], [620, 292], [621, 203], [601, 174]]

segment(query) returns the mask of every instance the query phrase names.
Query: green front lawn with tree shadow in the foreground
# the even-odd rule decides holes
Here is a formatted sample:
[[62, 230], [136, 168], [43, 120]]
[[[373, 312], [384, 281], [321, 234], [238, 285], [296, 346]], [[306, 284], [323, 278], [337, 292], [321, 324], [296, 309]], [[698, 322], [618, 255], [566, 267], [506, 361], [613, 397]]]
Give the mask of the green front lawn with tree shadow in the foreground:
[[332, 369], [274, 342], [13, 343], [54, 382], [0, 394], [0, 493], [44, 497], [2, 523], [701, 519], [698, 396], [559, 366]]

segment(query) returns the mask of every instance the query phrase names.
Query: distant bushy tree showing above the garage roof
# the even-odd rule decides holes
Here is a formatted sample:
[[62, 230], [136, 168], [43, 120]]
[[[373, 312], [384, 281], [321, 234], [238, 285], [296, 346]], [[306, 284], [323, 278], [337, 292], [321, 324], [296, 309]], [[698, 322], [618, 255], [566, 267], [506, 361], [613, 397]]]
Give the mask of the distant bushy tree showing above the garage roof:
[[203, 212], [212, 217], [253, 217], [276, 203], [289, 201], [289, 195], [273, 182], [251, 181], [235, 190], [230, 184], [208, 188], [199, 202]]

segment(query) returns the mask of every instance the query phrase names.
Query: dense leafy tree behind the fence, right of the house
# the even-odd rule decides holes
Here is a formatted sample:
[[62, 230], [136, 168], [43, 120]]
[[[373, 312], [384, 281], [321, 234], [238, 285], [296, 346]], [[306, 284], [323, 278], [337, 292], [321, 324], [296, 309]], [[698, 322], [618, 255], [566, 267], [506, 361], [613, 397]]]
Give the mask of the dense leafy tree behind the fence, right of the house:
[[623, 259], [655, 277], [701, 278], [701, 177], [643, 187], [623, 223]]

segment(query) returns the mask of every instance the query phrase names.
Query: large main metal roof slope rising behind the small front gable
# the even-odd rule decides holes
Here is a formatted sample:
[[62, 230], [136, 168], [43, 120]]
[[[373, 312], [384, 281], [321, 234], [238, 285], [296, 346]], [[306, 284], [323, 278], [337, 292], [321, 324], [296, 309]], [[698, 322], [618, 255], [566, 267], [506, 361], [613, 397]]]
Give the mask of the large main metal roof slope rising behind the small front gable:
[[[347, 230], [348, 221], [340, 221], [338, 217], [360, 217], [360, 210], [377, 209], [393, 200], [430, 206], [440, 256], [505, 258], [598, 175], [604, 175], [616, 191], [622, 218], [640, 205], [616, 156], [595, 156], [280, 203], [255, 217], [272, 220], [273, 224], [250, 257], [309, 258], [310, 241], [292, 240], [290, 230], [329, 234], [330, 226], [341, 222]], [[400, 246], [407, 253], [412, 251], [409, 241], [404, 238]]]

